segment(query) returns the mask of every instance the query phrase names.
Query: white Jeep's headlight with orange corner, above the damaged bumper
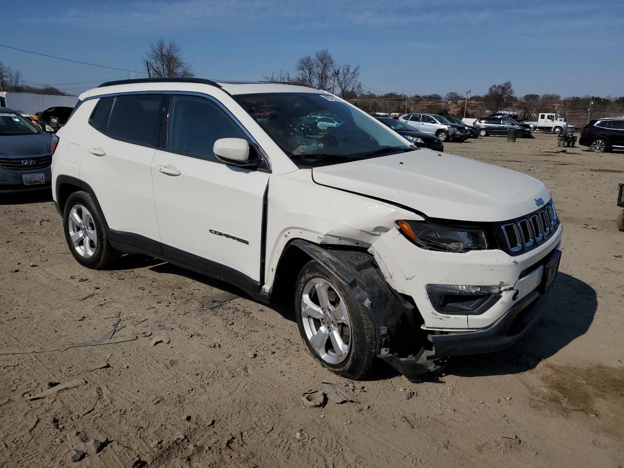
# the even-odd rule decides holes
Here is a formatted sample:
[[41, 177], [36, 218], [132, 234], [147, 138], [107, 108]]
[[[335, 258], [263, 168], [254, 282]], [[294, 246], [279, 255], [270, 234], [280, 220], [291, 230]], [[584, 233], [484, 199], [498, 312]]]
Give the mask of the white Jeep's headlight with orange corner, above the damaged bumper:
[[487, 236], [479, 228], [442, 226], [413, 220], [397, 220], [399, 231], [427, 250], [467, 252], [487, 249]]

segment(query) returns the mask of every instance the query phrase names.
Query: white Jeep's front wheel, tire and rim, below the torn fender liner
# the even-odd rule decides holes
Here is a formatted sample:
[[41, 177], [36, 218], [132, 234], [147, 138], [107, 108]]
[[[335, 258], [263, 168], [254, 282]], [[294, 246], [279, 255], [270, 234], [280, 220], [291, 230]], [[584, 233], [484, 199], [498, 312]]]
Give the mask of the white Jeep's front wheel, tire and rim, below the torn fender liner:
[[295, 314], [301, 337], [323, 366], [354, 380], [373, 373], [381, 348], [373, 321], [351, 291], [314, 260], [297, 278]]

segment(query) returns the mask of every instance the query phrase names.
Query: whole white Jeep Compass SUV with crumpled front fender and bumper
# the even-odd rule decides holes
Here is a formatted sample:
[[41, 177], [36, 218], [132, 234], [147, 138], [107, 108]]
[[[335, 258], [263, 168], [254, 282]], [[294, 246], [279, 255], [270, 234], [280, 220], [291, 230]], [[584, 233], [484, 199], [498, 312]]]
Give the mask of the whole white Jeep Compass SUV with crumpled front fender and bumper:
[[[319, 135], [310, 116], [342, 122]], [[310, 132], [310, 134], [308, 134]], [[144, 253], [293, 301], [310, 352], [353, 379], [410, 379], [514, 343], [557, 274], [535, 178], [417, 149], [294, 84], [152, 79], [80, 95], [52, 187], [88, 268]]]

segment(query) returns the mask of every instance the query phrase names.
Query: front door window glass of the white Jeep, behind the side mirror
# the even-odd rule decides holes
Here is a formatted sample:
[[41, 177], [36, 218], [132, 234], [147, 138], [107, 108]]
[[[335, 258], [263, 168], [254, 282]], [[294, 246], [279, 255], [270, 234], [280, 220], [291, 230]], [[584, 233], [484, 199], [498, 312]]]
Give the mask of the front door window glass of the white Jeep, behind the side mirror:
[[212, 150], [221, 138], [247, 139], [245, 132], [215, 102], [199, 96], [173, 96], [167, 149], [218, 161]]

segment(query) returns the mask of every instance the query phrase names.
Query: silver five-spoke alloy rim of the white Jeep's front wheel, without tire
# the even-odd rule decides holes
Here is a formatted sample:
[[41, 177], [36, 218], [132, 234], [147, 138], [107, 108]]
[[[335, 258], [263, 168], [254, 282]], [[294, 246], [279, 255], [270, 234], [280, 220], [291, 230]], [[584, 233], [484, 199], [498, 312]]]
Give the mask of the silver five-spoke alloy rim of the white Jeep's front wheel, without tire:
[[312, 278], [303, 288], [301, 323], [316, 354], [328, 364], [340, 364], [351, 348], [351, 321], [338, 290], [324, 278]]

